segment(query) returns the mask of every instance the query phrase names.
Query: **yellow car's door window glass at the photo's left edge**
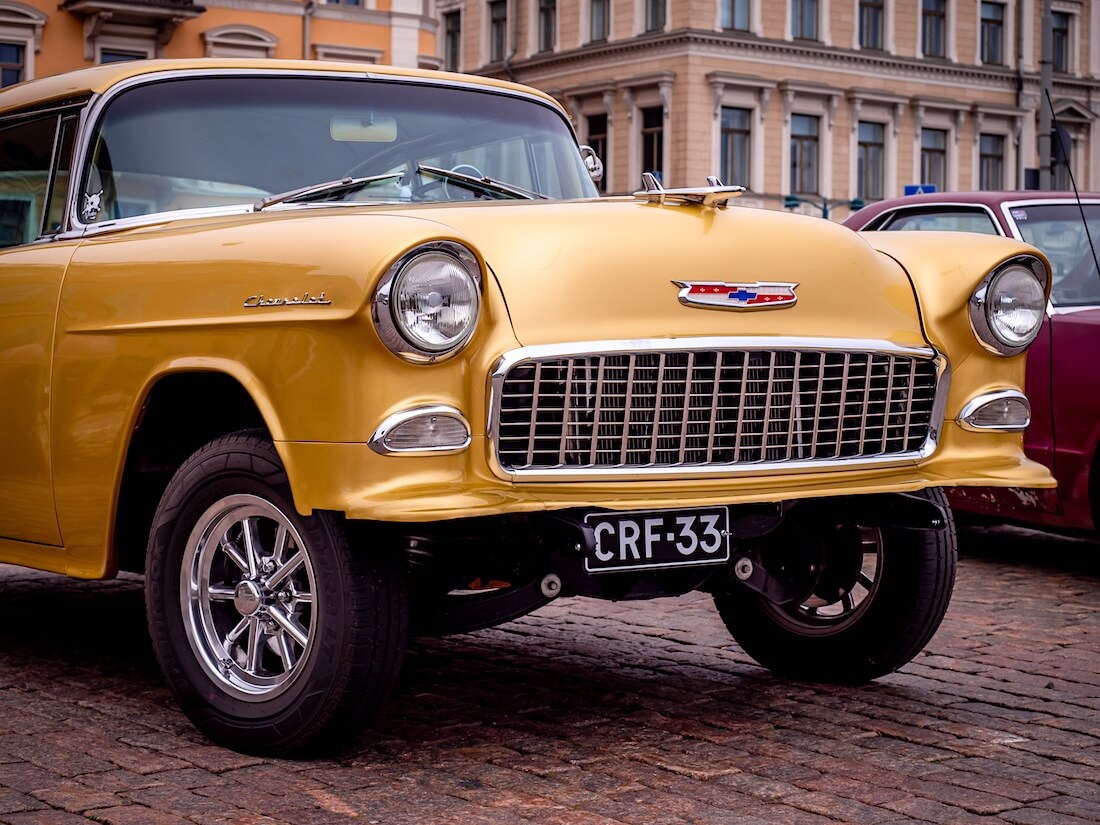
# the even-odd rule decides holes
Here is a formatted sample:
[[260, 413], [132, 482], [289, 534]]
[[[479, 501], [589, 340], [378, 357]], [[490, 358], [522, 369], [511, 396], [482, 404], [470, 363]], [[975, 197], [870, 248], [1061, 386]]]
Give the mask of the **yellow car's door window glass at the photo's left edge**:
[[0, 125], [0, 248], [42, 234], [57, 124], [52, 114]]

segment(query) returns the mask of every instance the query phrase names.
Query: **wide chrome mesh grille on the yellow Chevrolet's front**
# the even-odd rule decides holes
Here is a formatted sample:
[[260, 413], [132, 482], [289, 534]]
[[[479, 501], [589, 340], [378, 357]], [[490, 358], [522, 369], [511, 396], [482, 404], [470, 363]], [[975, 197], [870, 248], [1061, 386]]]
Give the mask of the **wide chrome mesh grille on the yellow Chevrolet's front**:
[[916, 455], [936, 362], [893, 352], [666, 350], [529, 358], [495, 384], [508, 473]]

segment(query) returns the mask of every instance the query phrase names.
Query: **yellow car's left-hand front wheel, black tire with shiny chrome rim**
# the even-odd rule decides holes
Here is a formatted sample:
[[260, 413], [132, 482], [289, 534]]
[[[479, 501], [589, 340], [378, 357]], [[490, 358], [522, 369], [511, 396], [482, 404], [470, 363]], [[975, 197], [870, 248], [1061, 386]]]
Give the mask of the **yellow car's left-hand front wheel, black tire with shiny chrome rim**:
[[408, 632], [398, 560], [352, 552], [334, 514], [299, 516], [254, 431], [211, 441], [168, 483], [145, 605], [184, 713], [215, 741], [264, 755], [358, 734], [396, 682]]

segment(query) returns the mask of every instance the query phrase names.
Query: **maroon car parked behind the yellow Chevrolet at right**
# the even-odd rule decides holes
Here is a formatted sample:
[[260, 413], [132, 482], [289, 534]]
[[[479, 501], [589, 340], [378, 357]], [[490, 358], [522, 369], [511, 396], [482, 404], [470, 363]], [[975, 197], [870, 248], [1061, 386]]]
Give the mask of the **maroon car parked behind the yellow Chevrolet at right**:
[[[1100, 194], [976, 191], [872, 204], [856, 230], [954, 230], [1016, 238], [1050, 258], [1047, 322], [1027, 352], [1027, 454], [1057, 490], [955, 488], [956, 509], [1055, 527], [1100, 529]], [[1091, 242], [1091, 248], [1090, 248]]]

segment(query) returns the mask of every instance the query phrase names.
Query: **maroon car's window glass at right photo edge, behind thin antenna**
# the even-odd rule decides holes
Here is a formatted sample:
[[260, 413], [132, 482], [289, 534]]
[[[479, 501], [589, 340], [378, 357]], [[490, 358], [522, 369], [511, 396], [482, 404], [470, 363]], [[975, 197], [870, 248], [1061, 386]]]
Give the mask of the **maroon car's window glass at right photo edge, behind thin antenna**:
[[[1100, 204], [1085, 205], [1088, 232], [1077, 204], [1040, 204], [1012, 207], [1012, 220], [1020, 235], [1038, 246], [1054, 271], [1050, 302], [1056, 307], [1100, 304], [1100, 274], [1089, 249], [1100, 242]], [[1100, 248], [1097, 249], [1100, 253]]]

